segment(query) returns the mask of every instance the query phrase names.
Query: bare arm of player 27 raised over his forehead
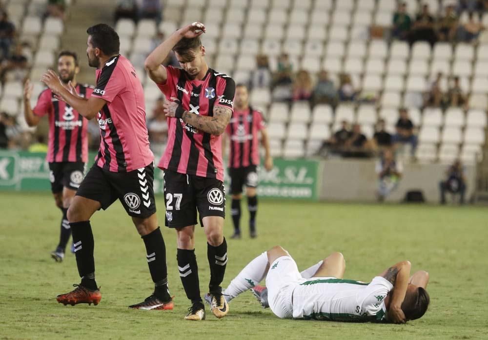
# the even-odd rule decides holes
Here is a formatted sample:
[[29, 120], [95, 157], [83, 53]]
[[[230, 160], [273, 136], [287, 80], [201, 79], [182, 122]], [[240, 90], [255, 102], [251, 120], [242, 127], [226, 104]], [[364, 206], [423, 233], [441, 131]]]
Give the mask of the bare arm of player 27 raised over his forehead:
[[154, 51], [147, 56], [144, 62], [144, 68], [155, 83], [164, 84], [168, 75], [166, 68], [162, 65], [168, 54], [178, 41], [183, 38], [195, 38], [202, 35], [205, 32], [205, 26], [200, 22], [193, 22], [186, 25], [176, 32], [174, 32], [168, 39], [164, 40]]

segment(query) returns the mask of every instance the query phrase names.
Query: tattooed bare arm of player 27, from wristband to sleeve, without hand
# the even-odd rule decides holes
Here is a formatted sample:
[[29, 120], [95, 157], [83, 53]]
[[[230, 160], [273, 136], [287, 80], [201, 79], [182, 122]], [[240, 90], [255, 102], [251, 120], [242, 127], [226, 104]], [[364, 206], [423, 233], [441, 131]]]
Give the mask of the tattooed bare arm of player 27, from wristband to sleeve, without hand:
[[183, 112], [183, 121], [190, 124], [200, 131], [209, 133], [211, 135], [220, 135], [225, 131], [225, 127], [229, 123], [232, 111], [223, 106], [215, 106], [213, 109], [213, 117], [200, 116], [188, 111]]

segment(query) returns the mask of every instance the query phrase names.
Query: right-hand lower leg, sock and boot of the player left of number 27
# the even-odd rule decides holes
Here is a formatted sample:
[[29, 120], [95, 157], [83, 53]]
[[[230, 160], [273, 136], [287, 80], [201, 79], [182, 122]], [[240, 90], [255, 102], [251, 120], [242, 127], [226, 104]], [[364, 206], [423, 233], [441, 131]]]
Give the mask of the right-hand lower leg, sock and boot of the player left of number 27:
[[154, 293], [141, 303], [130, 305], [129, 308], [143, 310], [173, 309], [173, 299], [171, 299], [168, 289], [166, 246], [161, 229], [158, 226], [158, 216], [152, 214], [143, 219], [133, 217], [132, 221], [142, 240], [144, 240], [146, 260], [154, 282]]

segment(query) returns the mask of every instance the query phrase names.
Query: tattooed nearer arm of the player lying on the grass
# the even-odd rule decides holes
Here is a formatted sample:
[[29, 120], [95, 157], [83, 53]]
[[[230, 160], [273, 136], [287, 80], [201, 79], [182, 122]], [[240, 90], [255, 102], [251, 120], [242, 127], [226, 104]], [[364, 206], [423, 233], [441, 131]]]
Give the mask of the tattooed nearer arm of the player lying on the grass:
[[390, 307], [388, 309], [388, 319], [394, 323], [405, 323], [406, 321], [401, 307], [403, 300], [405, 300], [405, 294], [407, 293], [410, 268], [411, 264], [409, 261], [402, 261], [386, 269], [380, 275], [393, 285]]

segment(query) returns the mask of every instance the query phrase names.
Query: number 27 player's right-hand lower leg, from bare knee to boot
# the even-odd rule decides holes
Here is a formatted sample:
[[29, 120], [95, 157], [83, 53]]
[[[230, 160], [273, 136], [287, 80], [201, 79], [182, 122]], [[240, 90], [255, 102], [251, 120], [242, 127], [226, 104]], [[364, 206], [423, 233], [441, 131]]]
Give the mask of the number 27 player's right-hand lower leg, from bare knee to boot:
[[224, 238], [224, 218], [206, 216], [202, 219], [203, 229], [207, 237], [207, 258], [210, 266], [210, 283], [208, 284], [210, 307], [217, 318], [224, 318], [229, 306], [222, 294], [220, 286], [224, 280], [227, 265], [227, 242]]

